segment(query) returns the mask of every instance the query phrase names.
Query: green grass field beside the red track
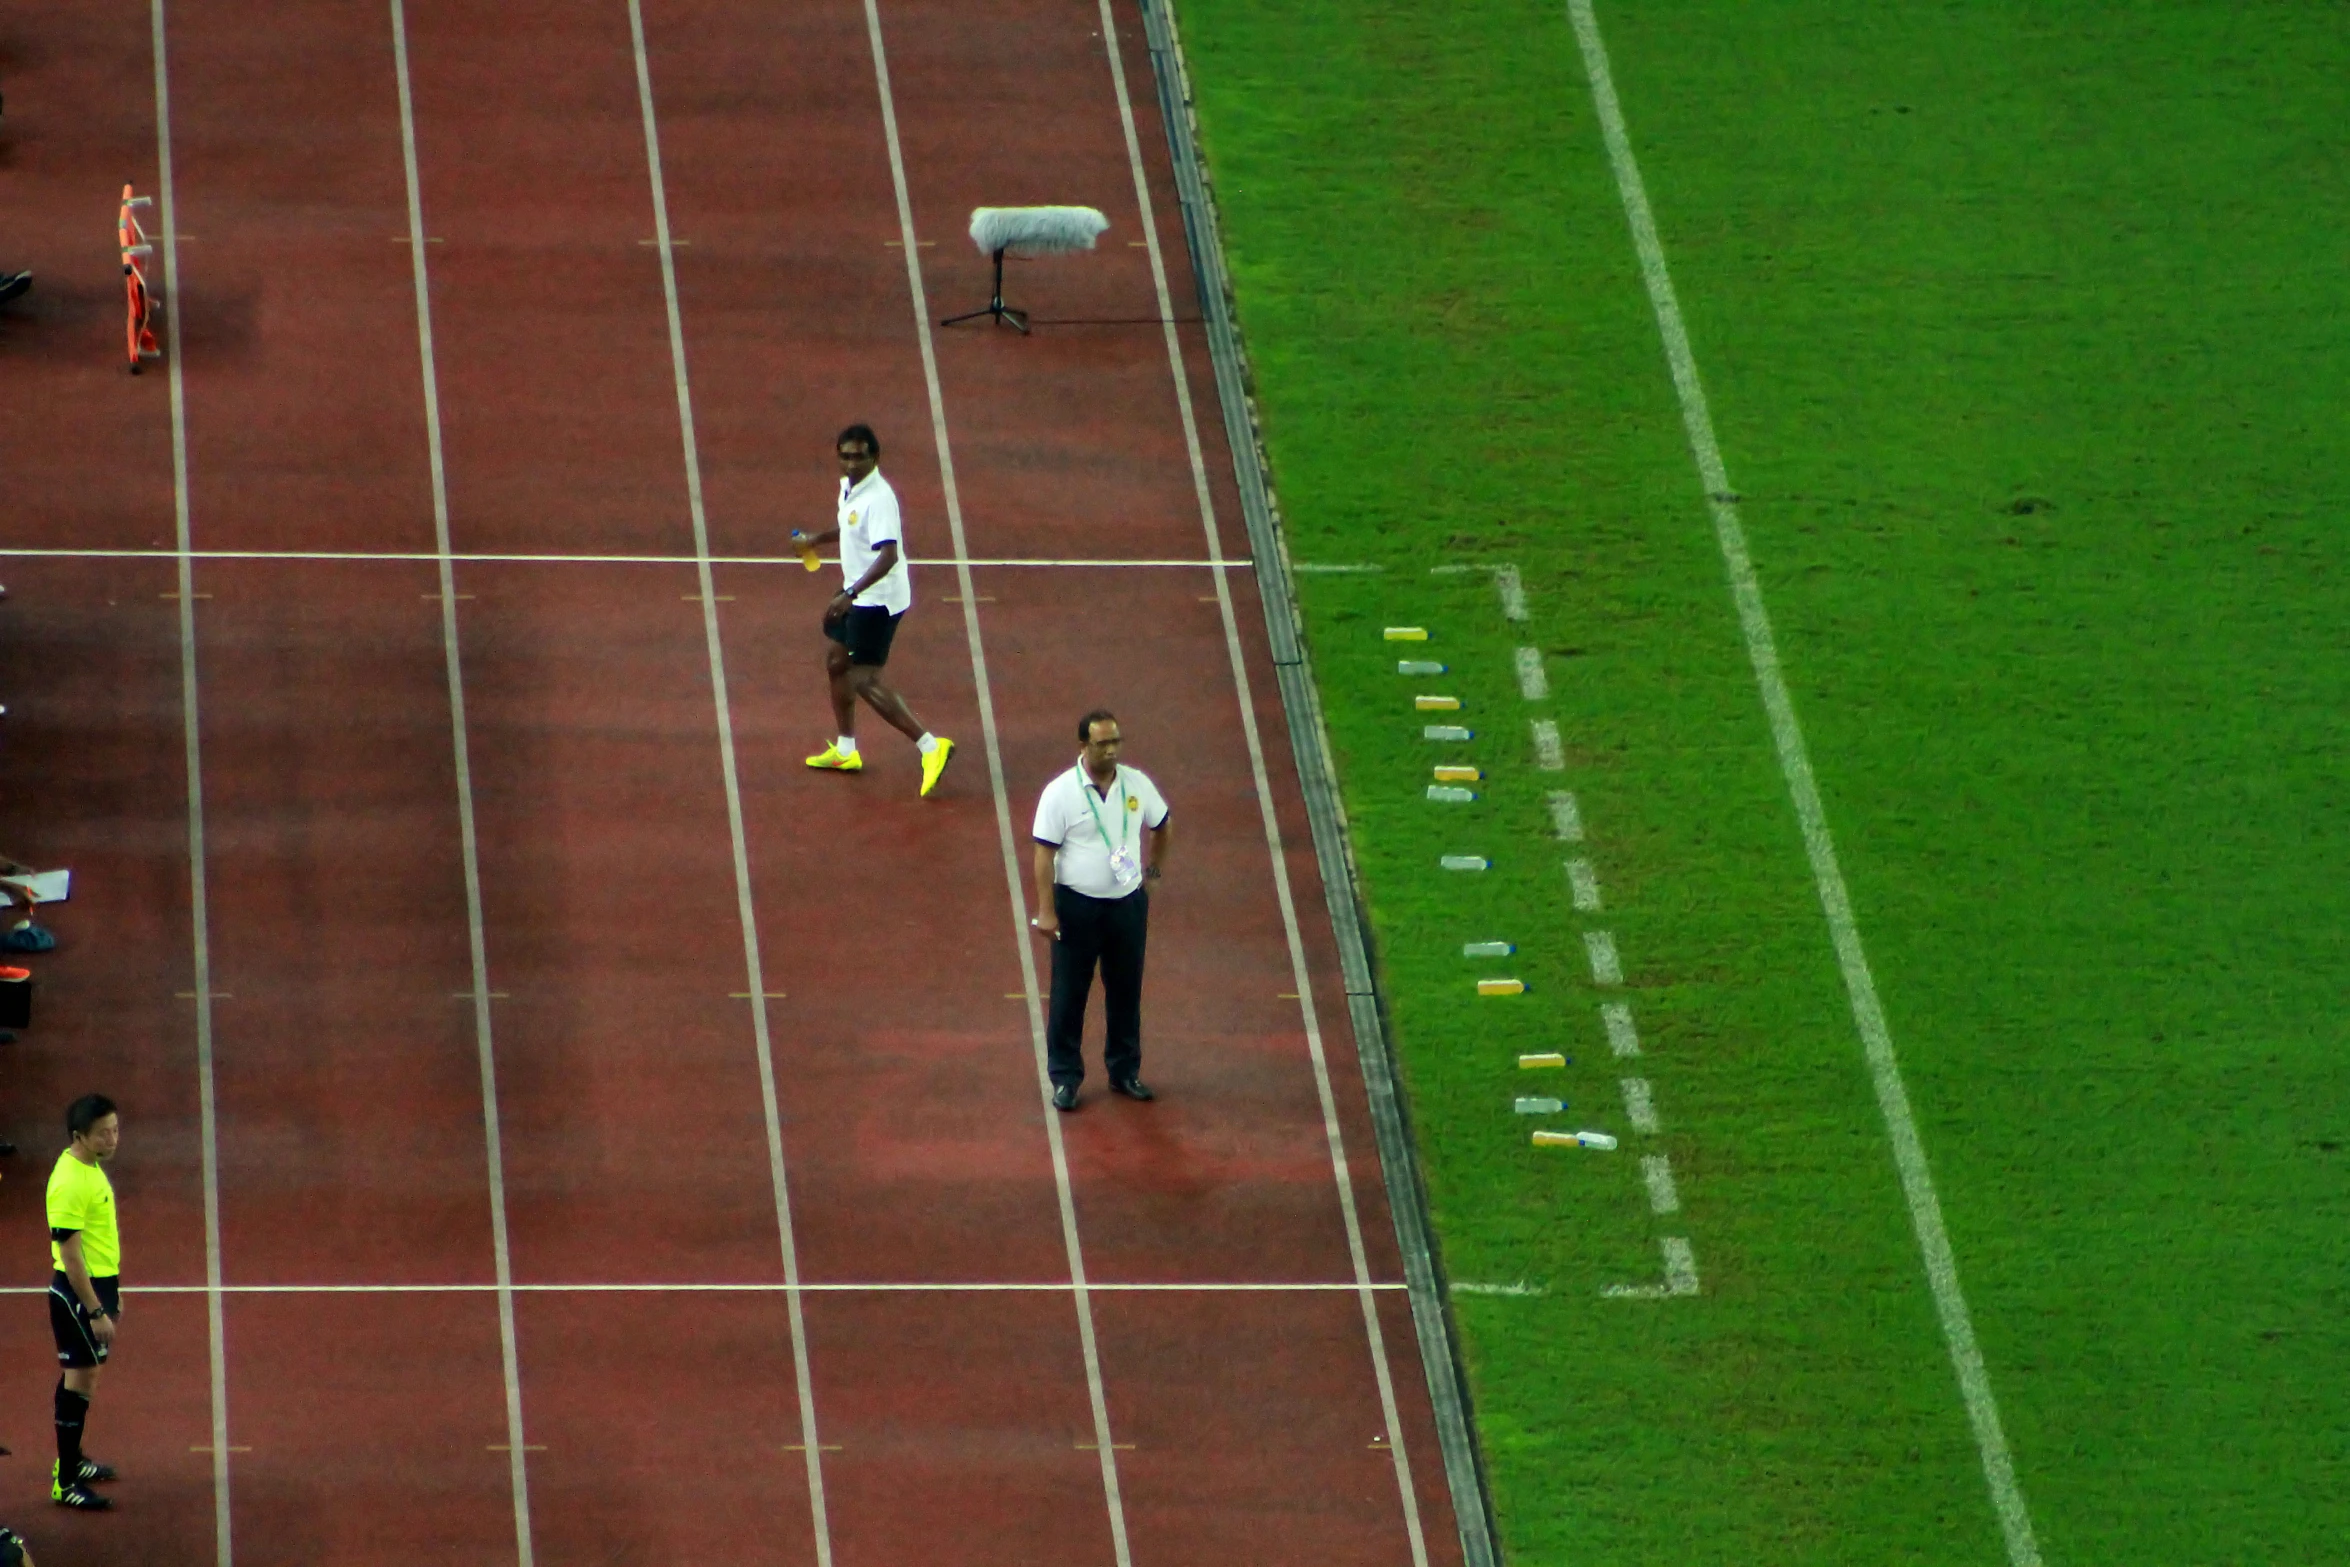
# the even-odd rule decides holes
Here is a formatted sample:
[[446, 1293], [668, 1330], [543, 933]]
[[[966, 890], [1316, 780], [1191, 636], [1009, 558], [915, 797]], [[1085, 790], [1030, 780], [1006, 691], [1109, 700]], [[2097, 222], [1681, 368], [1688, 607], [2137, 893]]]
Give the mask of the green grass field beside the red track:
[[[2042, 1553], [2345, 1560], [2350, 12], [1598, 16]], [[1180, 21], [1506, 1553], [2005, 1560], [1563, 0]]]

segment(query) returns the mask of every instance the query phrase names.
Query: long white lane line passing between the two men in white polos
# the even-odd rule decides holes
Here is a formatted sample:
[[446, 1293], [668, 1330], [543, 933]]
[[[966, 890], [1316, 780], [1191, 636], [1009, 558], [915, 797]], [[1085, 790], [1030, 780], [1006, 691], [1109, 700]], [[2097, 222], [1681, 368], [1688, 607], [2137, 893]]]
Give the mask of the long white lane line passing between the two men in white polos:
[[[1053, 1151], [1053, 1186], [1060, 1198], [1060, 1236], [1069, 1257], [1069, 1294], [1076, 1306], [1076, 1337], [1086, 1360], [1086, 1398], [1093, 1403], [1093, 1447], [1102, 1461], [1102, 1501], [1109, 1508], [1109, 1548], [1119, 1567], [1133, 1567], [1126, 1539], [1126, 1494], [1119, 1485], [1119, 1452], [1109, 1431], [1109, 1395], [1102, 1386], [1102, 1351], [1093, 1332], [1093, 1294], [1086, 1280], [1086, 1245], [1076, 1233], [1076, 1191], [1069, 1182], [1069, 1151], [1062, 1146], [1060, 1111], [1050, 1107], [1053, 1078], [1046, 1069], [1043, 1008], [1036, 1001], [1036, 951], [1029, 944], [1027, 888], [1020, 876], [1020, 853], [1013, 839], [1010, 794], [1003, 787], [1003, 747], [996, 735], [996, 700], [987, 684], [987, 646], [980, 641], [980, 606], [973, 601], [971, 547], [964, 536], [964, 500], [954, 484], [954, 449], [947, 442], [947, 395], [938, 381], [938, 345], [931, 341], [931, 296], [921, 282], [921, 249], [914, 244], [914, 195], [905, 176], [905, 146], [898, 141], [898, 101], [888, 85], [888, 47], [881, 42], [881, 7], [865, 0], [865, 35], [874, 56], [874, 92], [881, 99], [881, 134], [888, 141], [891, 188], [898, 197], [898, 240], [905, 249], [905, 287], [914, 305], [914, 341], [921, 345], [921, 383], [931, 397], [931, 439], [938, 446], [938, 482], [947, 503], [947, 531], [954, 536], [954, 580], [964, 597], [964, 639], [971, 646], [971, 679], [980, 700], [980, 733], [987, 742], [987, 785], [996, 801], [996, 841], [1003, 850], [1003, 890], [1010, 902], [1013, 947], [1020, 951], [1020, 989], [1027, 991], [1029, 1048], [1036, 1057], [1036, 1099], [1043, 1111], [1043, 1135]], [[1217, 592], [1224, 576], [1217, 573]]]

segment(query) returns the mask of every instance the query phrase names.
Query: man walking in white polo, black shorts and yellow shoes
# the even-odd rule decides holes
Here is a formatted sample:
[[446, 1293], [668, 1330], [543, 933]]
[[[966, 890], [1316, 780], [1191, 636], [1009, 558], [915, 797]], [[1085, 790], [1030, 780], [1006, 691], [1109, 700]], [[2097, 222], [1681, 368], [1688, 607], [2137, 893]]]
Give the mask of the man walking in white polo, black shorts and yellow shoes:
[[[898, 491], [881, 477], [881, 437], [870, 425], [848, 425], [834, 442], [841, 458], [841, 500], [834, 526], [822, 533], [792, 531], [804, 550], [841, 540], [841, 590], [825, 606], [825, 674], [832, 681], [832, 721], [839, 738], [808, 756], [811, 768], [862, 773], [858, 754], [858, 700], [921, 749], [921, 792], [947, 775], [954, 740], [933, 735], [907, 709], [905, 698], [881, 681], [898, 620], [914, 606], [914, 576], [905, 569], [898, 526]], [[815, 557], [808, 554], [813, 561]]]

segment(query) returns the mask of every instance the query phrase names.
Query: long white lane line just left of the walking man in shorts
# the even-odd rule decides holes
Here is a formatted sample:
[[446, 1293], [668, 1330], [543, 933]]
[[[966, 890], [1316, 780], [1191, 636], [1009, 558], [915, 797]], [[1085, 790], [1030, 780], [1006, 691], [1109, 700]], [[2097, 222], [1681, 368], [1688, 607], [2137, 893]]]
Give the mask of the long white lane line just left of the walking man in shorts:
[[[733, 705], [726, 693], [726, 646], [719, 637], [717, 585], [710, 566], [710, 515], [703, 507], [703, 456], [700, 442], [693, 435], [693, 383], [686, 378], [686, 324], [677, 305], [677, 249], [670, 244], [670, 186], [660, 172], [660, 120], [653, 113], [653, 66], [644, 52], [644, 7], [639, 0], [627, 0], [627, 35], [637, 49], [637, 108], [644, 117], [644, 164], [651, 179], [653, 237], [660, 254], [660, 301], [670, 324], [677, 435], [686, 465], [686, 510], [693, 519], [693, 571], [703, 590], [703, 646], [710, 653], [710, 702], [719, 735], [719, 775], [726, 785], [726, 836], [733, 850], [736, 919], [743, 926], [743, 975], [750, 982], [745, 994], [766, 996], [766, 968], [759, 959], [759, 916], [752, 907], [750, 843], [743, 832], [743, 782], [736, 771]], [[783, 1163], [776, 1050], [768, 1034], [766, 1003], [759, 1001], [747, 1010], [752, 1043], [759, 1055], [759, 1107], [766, 1114], [766, 1168], [776, 1196], [776, 1245], [783, 1257], [785, 1285], [797, 1285], [799, 1243], [792, 1233], [792, 1191], [785, 1182]], [[825, 1511], [825, 1450], [815, 1426], [815, 1379], [808, 1370], [808, 1318], [797, 1287], [785, 1294], [785, 1318], [792, 1332], [792, 1379], [799, 1393], [799, 1445], [808, 1468], [808, 1522], [815, 1534], [815, 1567], [832, 1567], [832, 1522]]]

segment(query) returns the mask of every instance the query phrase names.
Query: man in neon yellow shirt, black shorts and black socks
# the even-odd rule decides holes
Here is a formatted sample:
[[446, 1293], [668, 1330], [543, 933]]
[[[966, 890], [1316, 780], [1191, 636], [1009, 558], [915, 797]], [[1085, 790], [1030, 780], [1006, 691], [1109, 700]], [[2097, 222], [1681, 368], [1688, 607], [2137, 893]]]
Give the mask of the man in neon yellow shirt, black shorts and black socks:
[[82, 1095], [66, 1107], [73, 1142], [49, 1172], [49, 1332], [56, 1334], [56, 1468], [49, 1501], [103, 1513], [113, 1506], [92, 1487], [115, 1471], [82, 1457], [82, 1426], [99, 1391], [99, 1367], [115, 1344], [122, 1316], [122, 1231], [115, 1226], [115, 1184], [106, 1161], [122, 1142], [122, 1116], [106, 1095]]

